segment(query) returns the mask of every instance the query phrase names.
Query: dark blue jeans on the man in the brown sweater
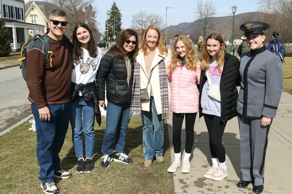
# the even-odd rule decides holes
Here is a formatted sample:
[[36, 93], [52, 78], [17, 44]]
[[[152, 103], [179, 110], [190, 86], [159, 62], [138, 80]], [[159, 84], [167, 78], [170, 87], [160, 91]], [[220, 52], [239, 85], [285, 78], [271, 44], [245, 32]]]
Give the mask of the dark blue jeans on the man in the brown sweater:
[[42, 183], [53, 182], [55, 172], [61, 169], [59, 153], [63, 146], [69, 126], [70, 102], [66, 104], [47, 105], [50, 121], [39, 119], [39, 110], [31, 104], [36, 122], [36, 157], [41, 168], [39, 180]]

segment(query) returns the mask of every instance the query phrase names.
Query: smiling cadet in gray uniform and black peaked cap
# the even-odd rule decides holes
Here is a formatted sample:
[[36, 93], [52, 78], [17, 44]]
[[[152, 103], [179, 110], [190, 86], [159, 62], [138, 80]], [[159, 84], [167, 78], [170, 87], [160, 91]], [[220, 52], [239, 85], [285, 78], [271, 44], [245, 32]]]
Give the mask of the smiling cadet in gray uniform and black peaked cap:
[[281, 60], [265, 46], [265, 31], [269, 28], [270, 25], [263, 22], [246, 22], [240, 26], [251, 50], [240, 58], [241, 82], [236, 111], [242, 179], [237, 186], [245, 188], [252, 183], [254, 193], [262, 193], [264, 189], [268, 134], [283, 89]]

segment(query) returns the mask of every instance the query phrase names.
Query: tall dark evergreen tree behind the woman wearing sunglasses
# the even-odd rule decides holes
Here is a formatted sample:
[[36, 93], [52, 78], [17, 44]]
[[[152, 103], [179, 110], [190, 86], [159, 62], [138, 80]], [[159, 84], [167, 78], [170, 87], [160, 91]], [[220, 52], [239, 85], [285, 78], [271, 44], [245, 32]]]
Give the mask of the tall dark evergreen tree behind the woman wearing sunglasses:
[[[109, 33], [112, 33], [112, 37], [111, 40], [113, 41], [114, 38], [114, 28], [115, 28], [115, 35], [116, 35], [116, 41], [119, 38], [119, 35], [121, 34], [121, 10], [118, 8], [116, 2], [114, 1], [114, 3], [112, 4], [112, 7], [110, 9], [110, 11], [108, 12], [108, 31]], [[105, 35], [107, 36], [107, 21], [105, 21]]]

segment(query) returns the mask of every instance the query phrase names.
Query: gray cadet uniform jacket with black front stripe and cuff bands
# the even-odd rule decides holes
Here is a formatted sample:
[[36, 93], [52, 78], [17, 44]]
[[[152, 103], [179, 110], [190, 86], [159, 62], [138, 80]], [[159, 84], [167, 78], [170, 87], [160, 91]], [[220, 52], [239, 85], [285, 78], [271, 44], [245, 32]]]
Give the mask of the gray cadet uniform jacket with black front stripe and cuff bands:
[[236, 111], [243, 118], [275, 118], [283, 89], [283, 66], [266, 46], [242, 54]]

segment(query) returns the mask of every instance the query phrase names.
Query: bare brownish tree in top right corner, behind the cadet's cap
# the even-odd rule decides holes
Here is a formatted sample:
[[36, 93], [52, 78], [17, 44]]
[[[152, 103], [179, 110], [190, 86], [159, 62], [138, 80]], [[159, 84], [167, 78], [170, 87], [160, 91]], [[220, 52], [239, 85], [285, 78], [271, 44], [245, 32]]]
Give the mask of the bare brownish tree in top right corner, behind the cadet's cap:
[[[280, 33], [283, 43], [292, 42], [292, 1], [291, 0], [261, 0], [258, 1], [258, 11], [267, 13], [265, 21], [271, 25], [270, 34]], [[267, 37], [269, 38], [269, 37]]]

